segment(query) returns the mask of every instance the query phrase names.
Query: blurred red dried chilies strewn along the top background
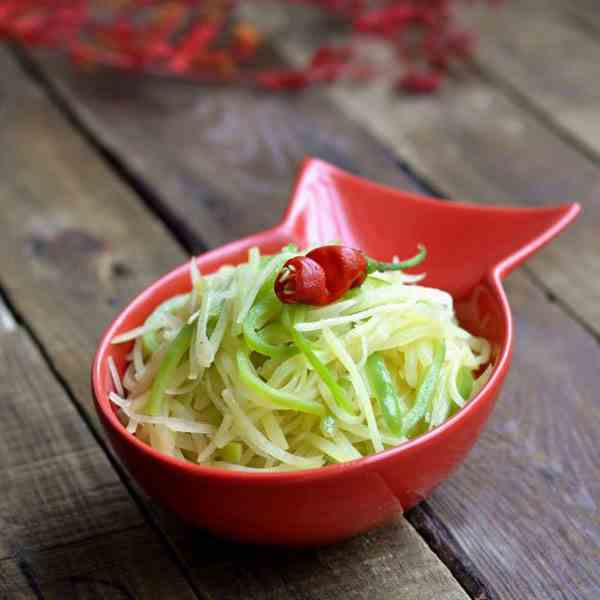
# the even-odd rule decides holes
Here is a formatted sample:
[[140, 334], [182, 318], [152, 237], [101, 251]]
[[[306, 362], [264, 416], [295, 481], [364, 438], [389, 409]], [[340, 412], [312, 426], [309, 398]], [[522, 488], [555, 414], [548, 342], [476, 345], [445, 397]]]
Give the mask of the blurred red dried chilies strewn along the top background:
[[[254, 64], [244, 73], [239, 67], [251, 62], [262, 39], [250, 23], [236, 23], [240, 1], [0, 0], [0, 39], [61, 48], [85, 65], [239, 77], [271, 90], [366, 79], [396, 68], [406, 72], [399, 87], [420, 94], [436, 91], [452, 64], [473, 51], [473, 36], [455, 27], [458, 0], [297, 0], [349, 25], [353, 37], [341, 48], [317, 46], [304, 66], [260, 70]], [[390, 69], [365, 62], [359, 47], [364, 36], [391, 47], [398, 64]], [[350, 45], [357, 51], [350, 52]]]

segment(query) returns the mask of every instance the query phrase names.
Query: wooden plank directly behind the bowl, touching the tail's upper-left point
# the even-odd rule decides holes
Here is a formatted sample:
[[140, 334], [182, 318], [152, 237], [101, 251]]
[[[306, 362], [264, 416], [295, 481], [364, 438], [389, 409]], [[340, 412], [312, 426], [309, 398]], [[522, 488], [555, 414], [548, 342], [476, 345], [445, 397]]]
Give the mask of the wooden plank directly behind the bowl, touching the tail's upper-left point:
[[306, 155], [390, 185], [406, 183], [385, 148], [364, 152], [364, 130], [318, 93], [277, 98], [217, 86], [206, 93], [119, 72], [82, 77], [52, 58], [43, 64], [95, 139], [160, 196], [195, 249], [203, 245], [198, 231], [204, 244], [216, 246], [275, 224]]

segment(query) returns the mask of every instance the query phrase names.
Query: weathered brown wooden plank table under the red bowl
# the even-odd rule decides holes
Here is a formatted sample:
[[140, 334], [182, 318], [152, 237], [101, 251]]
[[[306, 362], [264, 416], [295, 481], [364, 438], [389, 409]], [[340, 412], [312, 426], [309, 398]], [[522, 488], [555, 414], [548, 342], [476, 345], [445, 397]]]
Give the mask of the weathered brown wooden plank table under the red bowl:
[[[439, 96], [201, 88], [0, 49], [0, 596], [600, 598], [600, 11], [477, 16]], [[305, 41], [279, 50], [295, 60]], [[466, 464], [406, 519], [317, 551], [193, 531], [131, 482], [88, 388], [105, 324], [280, 218], [304, 155], [455, 199], [584, 215], [508, 281], [517, 345]]]

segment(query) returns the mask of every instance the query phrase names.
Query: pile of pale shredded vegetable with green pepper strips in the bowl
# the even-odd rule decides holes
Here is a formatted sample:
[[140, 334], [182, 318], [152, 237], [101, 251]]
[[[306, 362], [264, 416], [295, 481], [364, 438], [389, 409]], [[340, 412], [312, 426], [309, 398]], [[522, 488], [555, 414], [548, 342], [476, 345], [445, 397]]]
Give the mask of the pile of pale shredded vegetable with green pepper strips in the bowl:
[[286, 261], [200, 274], [141, 326], [110, 399], [131, 434], [183, 460], [242, 471], [351, 461], [415, 438], [488, 381], [490, 344], [462, 329], [452, 297], [422, 275], [370, 273], [326, 306], [273, 291]]

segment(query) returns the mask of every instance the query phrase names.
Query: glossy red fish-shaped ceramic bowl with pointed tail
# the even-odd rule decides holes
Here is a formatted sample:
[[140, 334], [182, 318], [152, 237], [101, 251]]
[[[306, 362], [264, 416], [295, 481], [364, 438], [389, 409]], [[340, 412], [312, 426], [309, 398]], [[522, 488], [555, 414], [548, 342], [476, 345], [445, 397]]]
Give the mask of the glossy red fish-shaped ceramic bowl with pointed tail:
[[577, 204], [505, 208], [441, 202], [382, 187], [318, 160], [302, 167], [283, 221], [198, 258], [204, 273], [246, 259], [251, 246], [276, 252], [341, 240], [369, 255], [408, 256], [426, 244], [429, 286], [449, 291], [461, 323], [494, 347], [489, 383], [433, 431], [342, 465], [290, 473], [238, 473], [164, 456], [129, 434], [108, 399], [108, 357], [122, 372], [130, 345], [111, 339], [144, 322], [166, 298], [190, 289], [182, 265], [142, 292], [104, 333], [92, 370], [96, 410], [132, 477], [185, 521], [247, 542], [311, 546], [381, 524], [423, 500], [464, 460], [508, 372], [513, 321], [501, 279], [557, 235]]

